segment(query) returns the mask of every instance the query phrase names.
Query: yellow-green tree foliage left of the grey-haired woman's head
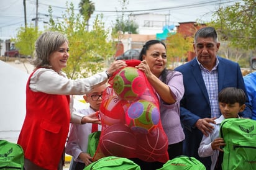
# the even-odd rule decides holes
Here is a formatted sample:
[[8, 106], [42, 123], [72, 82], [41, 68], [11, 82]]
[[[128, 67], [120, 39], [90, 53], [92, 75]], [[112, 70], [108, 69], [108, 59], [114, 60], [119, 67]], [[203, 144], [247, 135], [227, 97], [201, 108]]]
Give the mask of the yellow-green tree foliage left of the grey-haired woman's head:
[[19, 49], [22, 55], [34, 58], [35, 41], [40, 34], [42, 32], [31, 24], [30, 27], [20, 27], [17, 38], [12, 38], [11, 41], [15, 43], [16, 48]]

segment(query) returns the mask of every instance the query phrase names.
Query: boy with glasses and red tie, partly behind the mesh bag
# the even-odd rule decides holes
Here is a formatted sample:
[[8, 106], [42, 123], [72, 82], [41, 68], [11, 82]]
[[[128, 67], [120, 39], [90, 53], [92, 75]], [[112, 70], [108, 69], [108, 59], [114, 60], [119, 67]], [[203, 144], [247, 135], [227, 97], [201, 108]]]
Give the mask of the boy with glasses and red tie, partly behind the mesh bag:
[[[88, 94], [85, 94], [83, 98], [89, 103], [89, 107], [86, 109], [77, 110], [78, 113], [88, 115], [99, 110], [102, 102], [102, 94], [106, 89], [106, 85], [103, 84], [94, 88]], [[101, 125], [86, 123], [86, 124], [73, 124], [70, 126], [70, 134], [66, 143], [66, 153], [73, 156], [70, 164], [70, 170], [84, 169], [85, 166], [91, 164], [93, 155], [86, 153], [88, 146], [88, 135], [94, 131], [101, 130]]]

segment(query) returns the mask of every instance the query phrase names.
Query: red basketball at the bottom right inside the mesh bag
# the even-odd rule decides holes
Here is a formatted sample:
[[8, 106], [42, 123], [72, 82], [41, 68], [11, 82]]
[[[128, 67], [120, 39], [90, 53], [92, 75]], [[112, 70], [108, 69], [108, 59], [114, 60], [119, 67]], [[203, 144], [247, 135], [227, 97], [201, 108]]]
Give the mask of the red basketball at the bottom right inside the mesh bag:
[[150, 133], [137, 135], [137, 158], [147, 162], [168, 161], [168, 138], [162, 128], [156, 127]]

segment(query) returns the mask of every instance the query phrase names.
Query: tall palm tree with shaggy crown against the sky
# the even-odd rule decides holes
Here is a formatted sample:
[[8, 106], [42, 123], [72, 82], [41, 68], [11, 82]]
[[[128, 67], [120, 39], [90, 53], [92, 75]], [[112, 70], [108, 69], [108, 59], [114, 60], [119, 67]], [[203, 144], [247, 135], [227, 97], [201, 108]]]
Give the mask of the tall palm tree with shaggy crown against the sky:
[[89, 30], [89, 19], [95, 11], [94, 3], [89, 0], [81, 0], [79, 3], [79, 8], [81, 16], [83, 16], [87, 22], [87, 30]]

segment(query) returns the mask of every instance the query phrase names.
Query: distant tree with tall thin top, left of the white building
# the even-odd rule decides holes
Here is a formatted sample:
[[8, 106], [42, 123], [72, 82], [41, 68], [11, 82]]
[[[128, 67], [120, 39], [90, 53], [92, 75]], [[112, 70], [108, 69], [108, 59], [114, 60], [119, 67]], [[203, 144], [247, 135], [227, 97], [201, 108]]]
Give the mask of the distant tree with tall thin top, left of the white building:
[[126, 6], [129, 4], [129, 1], [121, 0], [120, 2], [122, 7], [121, 16], [117, 14], [116, 23], [112, 28], [112, 33], [117, 34], [119, 31], [122, 31], [123, 33], [131, 32], [132, 34], [138, 34], [137, 29], [139, 25], [136, 24], [133, 20], [125, 19], [124, 13], [125, 13], [125, 10], [127, 9]]

